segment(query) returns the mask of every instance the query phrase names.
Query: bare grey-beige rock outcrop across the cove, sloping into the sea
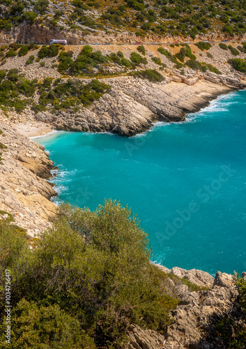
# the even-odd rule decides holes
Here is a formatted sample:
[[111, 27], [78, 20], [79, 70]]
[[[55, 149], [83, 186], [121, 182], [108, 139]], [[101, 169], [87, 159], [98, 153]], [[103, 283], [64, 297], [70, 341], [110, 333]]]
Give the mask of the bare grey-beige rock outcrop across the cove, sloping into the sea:
[[191, 85], [170, 80], [152, 83], [134, 77], [104, 81], [112, 89], [91, 107], [76, 113], [39, 112], [36, 119], [61, 130], [112, 131], [130, 136], [146, 131], [155, 121], [184, 121], [186, 112], [196, 112], [216, 96], [231, 91], [231, 87], [205, 80]]

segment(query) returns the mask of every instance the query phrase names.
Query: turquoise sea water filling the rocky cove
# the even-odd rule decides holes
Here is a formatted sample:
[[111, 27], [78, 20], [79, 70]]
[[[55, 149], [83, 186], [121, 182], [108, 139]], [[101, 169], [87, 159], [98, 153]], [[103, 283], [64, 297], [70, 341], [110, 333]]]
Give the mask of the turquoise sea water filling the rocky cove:
[[132, 138], [55, 131], [35, 139], [59, 166], [55, 202], [128, 204], [166, 267], [246, 271], [246, 91]]

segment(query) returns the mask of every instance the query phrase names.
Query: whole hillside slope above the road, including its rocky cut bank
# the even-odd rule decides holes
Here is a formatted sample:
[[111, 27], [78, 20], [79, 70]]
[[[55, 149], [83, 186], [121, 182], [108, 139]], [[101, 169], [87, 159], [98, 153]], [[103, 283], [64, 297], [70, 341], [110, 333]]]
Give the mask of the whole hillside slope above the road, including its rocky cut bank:
[[137, 37], [150, 42], [172, 37], [238, 38], [245, 34], [245, 10], [245, 0], [1, 0], [0, 38], [3, 43], [11, 38], [47, 43], [52, 36], [69, 43], [86, 38], [93, 42], [93, 37], [105, 43]]

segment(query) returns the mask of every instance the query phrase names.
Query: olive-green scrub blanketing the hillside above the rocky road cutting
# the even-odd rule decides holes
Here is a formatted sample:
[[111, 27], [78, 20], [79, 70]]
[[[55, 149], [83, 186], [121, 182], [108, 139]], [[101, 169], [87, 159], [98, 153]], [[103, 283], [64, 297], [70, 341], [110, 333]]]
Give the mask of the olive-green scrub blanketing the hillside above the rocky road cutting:
[[[85, 35], [127, 30], [137, 36], [171, 34], [194, 38], [212, 32], [242, 35], [246, 30], [245, 0], [71, 0], [69, 7], [65, 1], [1, 0], [1, 5], [0, 29], [5, 31], [24, 21], [61, 30], [77, 29]], [[98, 17], [91, 10], [97, 11]]]

